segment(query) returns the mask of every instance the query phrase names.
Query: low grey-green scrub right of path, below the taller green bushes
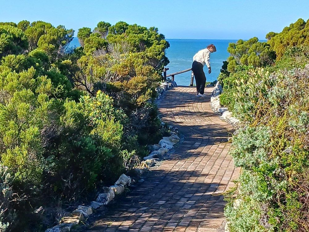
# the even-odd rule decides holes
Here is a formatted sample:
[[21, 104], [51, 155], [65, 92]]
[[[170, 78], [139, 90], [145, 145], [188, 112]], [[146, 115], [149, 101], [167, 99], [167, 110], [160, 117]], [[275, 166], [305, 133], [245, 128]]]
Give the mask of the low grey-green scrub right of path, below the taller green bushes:
[[233, 113], [248, 126], [233, 137], [230, 150], [243, 172], [238, 181], [240, 206], [234, 208], [233, 200], [226, 206], [229, 227], [307, 231], [303, 197], [308, 195], [309, 67], [248, 75], [248, 82], [238, 85], [238, 97], [234, 95]]

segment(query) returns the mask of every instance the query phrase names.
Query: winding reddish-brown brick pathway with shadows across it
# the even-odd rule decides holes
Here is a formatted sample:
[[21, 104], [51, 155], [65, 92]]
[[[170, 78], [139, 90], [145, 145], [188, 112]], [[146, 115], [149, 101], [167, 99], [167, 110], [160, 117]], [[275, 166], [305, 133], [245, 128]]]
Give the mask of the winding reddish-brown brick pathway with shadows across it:
[[[194, 87], [169, 90], [159, 103], [162, 119], [185, 140], [145, 181], [88, 226], [87, 231], [222, 231], [222, 195], [239, 174], [226, 144], [231, 127]], [[224, 231], [224, 230], [223, 230]]]

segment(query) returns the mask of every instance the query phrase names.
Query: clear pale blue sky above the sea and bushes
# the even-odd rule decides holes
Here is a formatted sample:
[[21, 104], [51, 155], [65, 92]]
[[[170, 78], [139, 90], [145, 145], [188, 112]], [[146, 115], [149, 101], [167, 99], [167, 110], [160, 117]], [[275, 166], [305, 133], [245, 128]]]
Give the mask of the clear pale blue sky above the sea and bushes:
[[309, 18], [309, 0], [0, 0], [0, 6], [2, 22], [43, 20], [77, 33], [99, 21], [121, 20], [158, 27], [169, 39], [264, 39]]

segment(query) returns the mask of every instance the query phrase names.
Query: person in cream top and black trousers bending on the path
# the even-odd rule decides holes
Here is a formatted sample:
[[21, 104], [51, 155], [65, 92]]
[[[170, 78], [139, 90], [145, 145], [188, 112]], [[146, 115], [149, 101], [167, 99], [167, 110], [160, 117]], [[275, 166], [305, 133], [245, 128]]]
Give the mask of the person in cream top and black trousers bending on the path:
[[195, 77], [195, 83], [196, 83], [196, 96], [197, 97], [205, 97], [204, 95], [204, 88], [206, 83], [206, 76], [203, 70], [203, 67], [208, 67], [208, 73], [211, 73], [211, 67], [210, 67], [210, 53], [216, 52], [217, 49], [215, 45], [210, 44], [207, 46], [207, 48], [202, 49], [197, 52], [193, 56], [193, 63], [192, 63], [192, 71]]

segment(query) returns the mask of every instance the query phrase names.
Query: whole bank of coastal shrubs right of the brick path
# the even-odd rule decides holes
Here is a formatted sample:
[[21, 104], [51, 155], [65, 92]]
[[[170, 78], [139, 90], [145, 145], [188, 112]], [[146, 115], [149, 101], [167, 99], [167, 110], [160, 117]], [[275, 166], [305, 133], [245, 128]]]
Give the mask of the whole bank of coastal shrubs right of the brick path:
[[230, 154], [230, 232], [309, 231], [309, 20], [230, 44], [221, 104], [242, 121]]

